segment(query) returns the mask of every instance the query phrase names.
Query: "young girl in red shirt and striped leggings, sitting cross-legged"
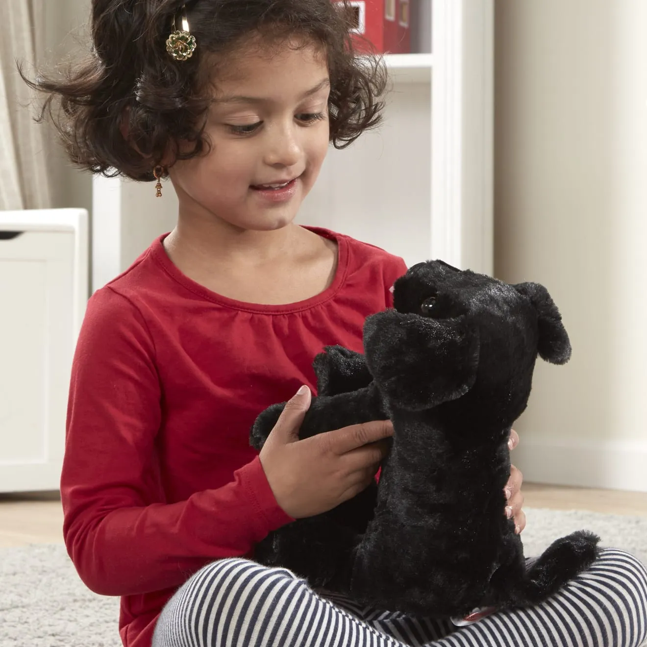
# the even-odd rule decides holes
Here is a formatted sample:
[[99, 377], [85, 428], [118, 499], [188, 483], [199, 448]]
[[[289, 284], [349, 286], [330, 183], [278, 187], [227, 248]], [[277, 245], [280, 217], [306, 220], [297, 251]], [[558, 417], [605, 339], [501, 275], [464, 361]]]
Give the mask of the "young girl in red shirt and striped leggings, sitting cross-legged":
[[[330, 0], [94, 0], [92, 28], [89, 60], [36, 83], [61, 99], [71, 159], [168, 175], [179, 197], [175, 229], [91, 298], [71, 382], [65, 542], [87, 586], [122, 597], [124, 645], [639, 644], [647, 576], [621, 551], [539, 608], [462, 627], [323, 597], [246, 559], [366, 487], [386, 452], [388, 421], [303, 441], [298, 428], [314, 355], [361, 351], [406, 267], [294, 224], [329, 143], [378, 123], [386, 76], [353, 56]], [[290, 398], [256, 455], [256, 415]], [[520, 481], [501, 510], [519, 531]]]

